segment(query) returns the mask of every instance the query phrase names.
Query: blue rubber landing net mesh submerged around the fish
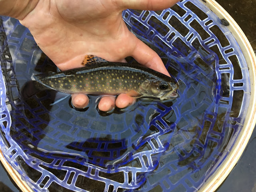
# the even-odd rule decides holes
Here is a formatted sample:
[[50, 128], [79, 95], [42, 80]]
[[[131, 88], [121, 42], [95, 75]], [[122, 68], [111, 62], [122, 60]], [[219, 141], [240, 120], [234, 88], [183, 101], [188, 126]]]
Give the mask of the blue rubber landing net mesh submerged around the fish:
[[84, 110], [70, 98], [51, 105], [52, 91], [24, 100], [32, 74], [57, 69], [27, 28], [0, 19], [0, 146], [34, 191], [196, 191], [238, 138], [250, 79], [228, 23], [196, 0], [123, 18], [177, 78], [180, 97], [111, 113], [97, 110], [96, 96]]

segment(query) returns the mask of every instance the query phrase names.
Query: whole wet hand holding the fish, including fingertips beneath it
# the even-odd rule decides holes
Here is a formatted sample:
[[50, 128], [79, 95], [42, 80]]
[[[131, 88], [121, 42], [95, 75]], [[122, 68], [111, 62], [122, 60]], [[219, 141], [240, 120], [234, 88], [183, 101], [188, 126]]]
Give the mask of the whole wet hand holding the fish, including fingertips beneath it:
[[[132, 34], [122, 11], [131, 9], [162, 10], [178, 0], [38, 0], [26, 15], [16, 16], [42, 51], [60, 68], [81, 67], [85, 55], [95, 55], [110, 62], [125, 62], [132, 56], [140, 64], [169, 76], [160, 57]], [[29, 3], [28, 3], [29, 4]], [[136, 101], [126, 94], [104, 96], [98, 108], [109, 111], [125, 108]], [[84, 108], [85, 94], [73, 94], [72, 103]]]

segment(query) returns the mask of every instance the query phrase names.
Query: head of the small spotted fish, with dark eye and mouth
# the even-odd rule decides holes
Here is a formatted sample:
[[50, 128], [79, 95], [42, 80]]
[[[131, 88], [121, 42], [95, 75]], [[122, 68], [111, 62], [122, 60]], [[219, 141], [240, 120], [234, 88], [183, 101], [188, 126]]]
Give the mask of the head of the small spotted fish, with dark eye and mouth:
[[179, 88], [178, 82], [171, 80], [146, 80], [141, 83], [140, 91], [143, 96], [164, 99], [174, 99], [179, 95], [177, 89]]

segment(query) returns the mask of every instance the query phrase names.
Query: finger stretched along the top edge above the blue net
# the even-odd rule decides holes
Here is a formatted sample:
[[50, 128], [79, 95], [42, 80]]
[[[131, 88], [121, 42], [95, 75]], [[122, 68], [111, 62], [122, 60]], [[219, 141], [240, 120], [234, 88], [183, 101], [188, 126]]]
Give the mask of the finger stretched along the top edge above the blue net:
[[179, 0], [116, 0], [123, 9], [163, 10], [179, 2]]

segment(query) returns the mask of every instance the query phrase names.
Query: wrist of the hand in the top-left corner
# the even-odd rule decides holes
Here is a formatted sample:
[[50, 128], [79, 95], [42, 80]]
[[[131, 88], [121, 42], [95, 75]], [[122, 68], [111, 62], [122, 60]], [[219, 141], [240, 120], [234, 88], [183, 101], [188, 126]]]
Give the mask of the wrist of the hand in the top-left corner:
[[39, 0], [0, 0], [0, 15], [24, 19]]

